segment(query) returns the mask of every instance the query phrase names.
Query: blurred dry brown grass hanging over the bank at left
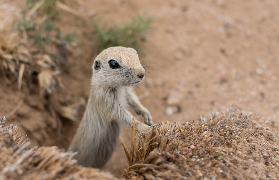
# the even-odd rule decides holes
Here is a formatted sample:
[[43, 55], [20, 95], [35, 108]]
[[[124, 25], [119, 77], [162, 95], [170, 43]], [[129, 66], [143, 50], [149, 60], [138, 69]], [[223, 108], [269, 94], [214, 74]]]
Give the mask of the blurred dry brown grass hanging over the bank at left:
[[[48, 108], [55, 119], [53, 127], [58, 131], [61, 128], [59, 117], [77, 122], [77, 111], [82, 103], [62, 106], [61, 98], [57, 97], [60, 94], [63, 96], [64, 92], [60, 68], [65, 63], [65, 57], [49, 53], [57, 51], [55, 45], [53, 47], [56, 48], [55, 50], [40, 50], [40, 47], [27, 41], [24, 33], [15, 32], [12, 27], [12, 23], [0, 27], [0, 77], [10, 84], [17, 83], [19, 90], [22, 89], [23, 84], [25, 88], [38, 87], [39, 96], [48, 97]], [[64, 48], [63, 51], [67, 50]], [[61, 50], [62, 53], [67, 54], [63, 51]], [[60, 58], [55, 59], [51, 56]]]

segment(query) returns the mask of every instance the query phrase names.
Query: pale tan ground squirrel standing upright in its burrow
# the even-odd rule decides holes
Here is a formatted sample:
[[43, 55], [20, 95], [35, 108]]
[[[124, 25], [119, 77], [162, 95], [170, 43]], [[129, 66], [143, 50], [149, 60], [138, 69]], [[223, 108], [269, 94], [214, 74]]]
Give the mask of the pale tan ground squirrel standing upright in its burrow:
[[150, 128], [150, 113], [132, 89], [144, 74], [133, 48], [109, 47], [96, 57], [86, 110], [68, 149], [78, 151], [78, 164], [104, 166], [113, 153], [121, 126], [132, 124], [134, 117], [127, 106], [144, 117], [145, 124], [138, 122], [138, 132]]

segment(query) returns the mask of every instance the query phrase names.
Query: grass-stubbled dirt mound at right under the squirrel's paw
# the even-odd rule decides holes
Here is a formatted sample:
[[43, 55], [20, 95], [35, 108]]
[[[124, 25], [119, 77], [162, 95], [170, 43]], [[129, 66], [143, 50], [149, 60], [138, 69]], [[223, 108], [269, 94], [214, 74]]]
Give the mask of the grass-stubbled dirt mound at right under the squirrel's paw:
[[[132, 130], [127, 179], [278, 179], [278, 128], [236, 108], [207, 121]], [[127, 150], [126, 153], [128, 154]]]

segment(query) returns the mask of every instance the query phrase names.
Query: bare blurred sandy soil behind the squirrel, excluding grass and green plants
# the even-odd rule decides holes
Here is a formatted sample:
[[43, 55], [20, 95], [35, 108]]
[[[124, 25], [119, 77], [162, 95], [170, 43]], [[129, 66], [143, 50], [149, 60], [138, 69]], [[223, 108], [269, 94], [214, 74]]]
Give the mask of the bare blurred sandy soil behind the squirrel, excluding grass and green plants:
[[[277, 0], [206, 1], [66, 1], [78, 11], [95, 10], [101, 22], [129, 23], [130, 17], [146, 13], [153, 17], [148, 42], [134, 47], [158, 70], [147, 74], [136, 87], [154, 123], [162, 120], [192, 121], [234, 105], [253, 111], [269, 121], [279, 117], [279, 2]], [[1, 19], [20, 16], [21, 1], [0, 4]], [[2, 23], [5, 21], [2, 21]], [[72, 48], [61, 74], [68, 105], [90, 90], [92, 56], [91, 17], [62, 11], [57, 24], [63, 32], [77, 29], [78, 43]], [[4, 24], [3, 23], [3, 24]], [[56, 137], [48, 121], [50, 113], [37, 93], [19, 92], [0, 78], [0, 113], [7, 115], [24, 97], [20, 109], [6, 120], [21, 127], [33, 146], [67, 148], [77, 124], [63, 121], [63, 136]], [[83, 108], [84, 109], [84, 108]], [[79, 119], [82, 116], [82, 110]], [[142, 119], [139, 116], [136, 116]], [[128, 144], [130, 130], [122, 137]], [[128, 145], [129, 146], [129, 145]], [[120, 146], [104, 168], [120, 176], [126, 159]]]

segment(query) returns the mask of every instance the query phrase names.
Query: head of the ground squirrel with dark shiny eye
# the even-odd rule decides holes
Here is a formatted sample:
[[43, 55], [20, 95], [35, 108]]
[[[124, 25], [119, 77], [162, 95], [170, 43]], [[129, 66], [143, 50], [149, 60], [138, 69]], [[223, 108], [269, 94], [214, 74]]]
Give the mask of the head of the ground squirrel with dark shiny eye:
[[93, 64], [94, 83], [108, 87], [131, 86], [144, 79], [138, 53], [129, 47], [109, 47]]

